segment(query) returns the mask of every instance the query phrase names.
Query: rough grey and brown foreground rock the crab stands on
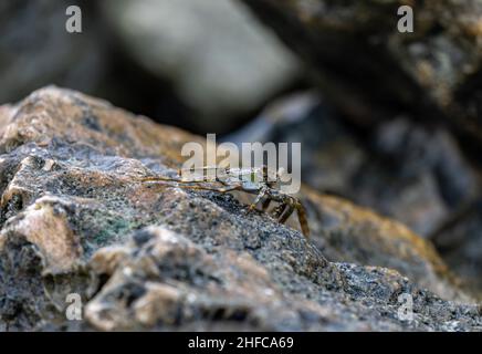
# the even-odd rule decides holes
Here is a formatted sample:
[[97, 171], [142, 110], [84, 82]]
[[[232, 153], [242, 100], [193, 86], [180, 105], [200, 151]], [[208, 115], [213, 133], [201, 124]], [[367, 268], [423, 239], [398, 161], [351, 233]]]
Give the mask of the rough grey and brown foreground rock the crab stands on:
[[[482, 329], [430, 243], [346, 200], [306, 188], [306, 240], [242, 196], [136, 183], [190, 140], [55, 87], [1, 106], [0, 329]], [[72, 292], [83, 321], [65, 317]]]

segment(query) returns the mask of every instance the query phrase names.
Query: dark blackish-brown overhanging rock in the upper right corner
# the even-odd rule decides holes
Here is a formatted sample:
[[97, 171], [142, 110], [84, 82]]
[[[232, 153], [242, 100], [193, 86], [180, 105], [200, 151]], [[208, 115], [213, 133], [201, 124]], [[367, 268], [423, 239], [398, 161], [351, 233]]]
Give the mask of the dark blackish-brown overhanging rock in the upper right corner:
[[[367, 126], [400, 112], [418, 122], [447, 121], [480, 153], [480, 2], [243, 2], [313, 66], [318, 85], [352, 122]], [[397, 25], [397, 10], [407, 4], [412, 33]]]

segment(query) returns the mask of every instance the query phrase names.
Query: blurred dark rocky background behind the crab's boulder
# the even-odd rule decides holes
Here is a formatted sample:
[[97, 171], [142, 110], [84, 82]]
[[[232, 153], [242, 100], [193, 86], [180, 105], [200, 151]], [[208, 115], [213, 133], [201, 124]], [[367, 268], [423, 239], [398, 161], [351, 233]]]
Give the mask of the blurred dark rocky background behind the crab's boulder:
[[307, 186], [407, 225], [480, 294], [479, 1], [74, 3], [82, 34], [63, 1], [0, 2], [0, 104], [56, 84], [223, 140], [301, 142]]

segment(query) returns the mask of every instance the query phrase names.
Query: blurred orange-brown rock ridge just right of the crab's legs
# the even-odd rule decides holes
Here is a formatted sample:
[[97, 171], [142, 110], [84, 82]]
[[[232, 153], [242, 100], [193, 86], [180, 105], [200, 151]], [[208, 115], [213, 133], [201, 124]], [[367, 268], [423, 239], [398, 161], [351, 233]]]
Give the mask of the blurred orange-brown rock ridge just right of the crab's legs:
[[313, 241], [331, 261], [395, 269], [444, 299], [469, 299], [433, 246], [404, 225], [346, 200], [305, 190]]

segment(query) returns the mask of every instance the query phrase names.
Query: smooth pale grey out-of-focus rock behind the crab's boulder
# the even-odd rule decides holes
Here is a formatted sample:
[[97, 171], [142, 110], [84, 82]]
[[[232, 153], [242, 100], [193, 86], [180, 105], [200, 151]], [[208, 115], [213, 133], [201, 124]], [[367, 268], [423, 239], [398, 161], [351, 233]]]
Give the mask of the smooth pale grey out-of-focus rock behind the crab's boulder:
[[201, 132], [229, 131], [298, 75], [294, 55], [237, 1], [102, 4], [125, 50], [151, 75], [172, 83]]

